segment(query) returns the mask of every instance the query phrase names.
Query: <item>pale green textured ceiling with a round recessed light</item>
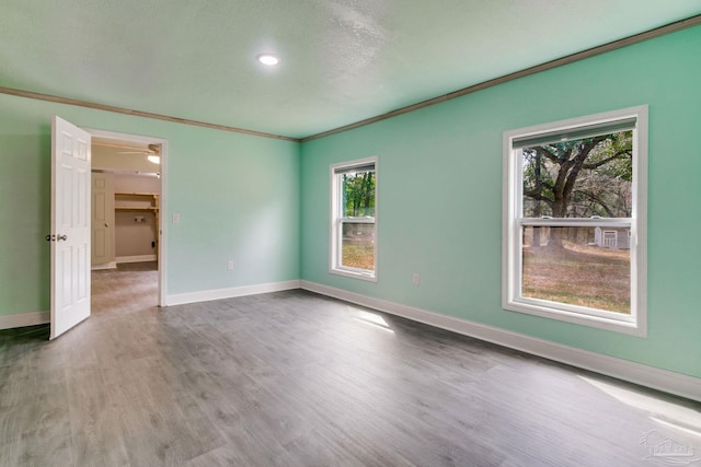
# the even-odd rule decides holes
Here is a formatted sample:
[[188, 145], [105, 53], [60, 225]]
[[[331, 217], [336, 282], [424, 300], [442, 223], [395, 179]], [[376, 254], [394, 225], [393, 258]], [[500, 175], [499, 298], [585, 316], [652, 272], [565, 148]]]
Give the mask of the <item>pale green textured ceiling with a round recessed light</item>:
[[301, 138], [699, 13], [701, 0], [2, 0], [0, 86]]

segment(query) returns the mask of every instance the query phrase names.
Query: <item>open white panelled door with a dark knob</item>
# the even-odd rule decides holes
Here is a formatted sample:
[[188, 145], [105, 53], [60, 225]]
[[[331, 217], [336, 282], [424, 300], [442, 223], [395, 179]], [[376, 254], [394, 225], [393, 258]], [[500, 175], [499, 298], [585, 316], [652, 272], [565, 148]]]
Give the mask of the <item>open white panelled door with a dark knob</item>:
[[90, 143], [88, 131], [51, 120], [51, 332], [90, 316]]

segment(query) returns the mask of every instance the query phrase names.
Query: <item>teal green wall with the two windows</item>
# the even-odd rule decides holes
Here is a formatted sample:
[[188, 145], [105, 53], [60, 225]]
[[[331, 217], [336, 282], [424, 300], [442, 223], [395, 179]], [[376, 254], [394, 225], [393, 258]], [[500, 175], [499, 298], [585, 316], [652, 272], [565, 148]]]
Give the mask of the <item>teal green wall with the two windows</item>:
[[[701, 26], [302, 144], [302, 279], [701, 376], [699, 50]], [[643, 104], [647, 338], [503, 311], [503, 132]], [[329, 165], [370, 155], [377, 283], [329, 273]]]

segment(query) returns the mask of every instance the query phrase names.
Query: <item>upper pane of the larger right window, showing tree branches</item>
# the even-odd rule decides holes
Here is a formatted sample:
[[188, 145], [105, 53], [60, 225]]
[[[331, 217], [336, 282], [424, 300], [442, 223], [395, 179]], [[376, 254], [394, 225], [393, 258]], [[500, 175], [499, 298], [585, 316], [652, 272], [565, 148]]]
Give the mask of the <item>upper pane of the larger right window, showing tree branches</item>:
[[525, 218], [630, 218], [633, 132], [521, 150]]

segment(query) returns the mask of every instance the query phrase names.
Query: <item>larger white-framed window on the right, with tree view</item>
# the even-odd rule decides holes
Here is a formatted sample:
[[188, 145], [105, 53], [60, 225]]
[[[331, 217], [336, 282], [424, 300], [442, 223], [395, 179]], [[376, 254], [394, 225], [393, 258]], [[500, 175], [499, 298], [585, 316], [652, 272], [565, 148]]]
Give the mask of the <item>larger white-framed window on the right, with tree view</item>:
[[644, 336], [647, 107], [504, 133], [503, 307]]

